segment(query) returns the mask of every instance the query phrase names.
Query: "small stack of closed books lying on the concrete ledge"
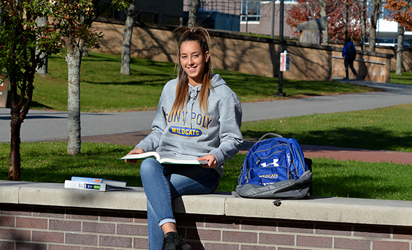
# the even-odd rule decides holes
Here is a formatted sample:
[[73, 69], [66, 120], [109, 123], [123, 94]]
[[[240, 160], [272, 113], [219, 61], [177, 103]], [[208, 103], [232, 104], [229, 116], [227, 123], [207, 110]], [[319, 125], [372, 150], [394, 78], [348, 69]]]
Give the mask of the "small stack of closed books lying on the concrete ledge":
[[64, 187], [66, 189], [85, 189], [103, 192], [131, 189], [126, 186], [126, 182], [89, 177], [72, 177], [71, 180], [66, 180], [64, 182]]

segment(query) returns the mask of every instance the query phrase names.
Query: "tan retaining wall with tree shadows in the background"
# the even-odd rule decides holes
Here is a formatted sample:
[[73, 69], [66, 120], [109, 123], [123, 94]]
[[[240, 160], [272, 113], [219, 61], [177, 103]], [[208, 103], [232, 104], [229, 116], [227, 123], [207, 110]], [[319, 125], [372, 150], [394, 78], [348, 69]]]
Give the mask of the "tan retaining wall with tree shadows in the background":
[[[104, 22], [103, 22], [104, 21]], [[123, 24], [119, 21], [102, 20], [93, 23], [92, 29], [105, 34], [100, 52], [121, 54]], [[215, 68], [239, 71], [255, 75], [277, 76], [279, 74], [278, 41], [269, 38], [242, 36], [228, 32], [210, 31], [211, 55]], [[290, 54], [290, 71], [285, 79], [332, 80], [345, 76], [342, 46], [322, 46], [286, 41], [284, 50]], [[132, 57], [158, 61], [176, 61], [177, 41], [170, 27], [139, 24], [133, 29]], [[390, 51], [388, 51], [390, 52]], [[393, 54], [365, 52], [354, 66], [363, 79], [389, 82]], [[376, 64], [377, 62], [377, 64]]]

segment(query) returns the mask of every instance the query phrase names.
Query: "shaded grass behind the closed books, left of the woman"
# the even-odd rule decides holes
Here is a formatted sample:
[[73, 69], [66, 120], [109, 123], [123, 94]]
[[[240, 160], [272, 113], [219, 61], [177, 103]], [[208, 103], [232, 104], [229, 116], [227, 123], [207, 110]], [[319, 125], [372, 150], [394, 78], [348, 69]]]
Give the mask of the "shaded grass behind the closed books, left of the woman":
[[[8, 145], [0, 145], [8, 153]], [[22, 143], [22, 181], [64, 183], [73, 176], [114, 179], [128, 186], [142, 186], [140, 163], [129, 164], [120, 160], [132, 149], [127, 145], [83, 142], [82, 153], [68, 155], [67, 142]], [[0, 179], [8, 177], [10, 159], [0, 157]], [[0, 155], [1, 156], [1, 155]], [[7, 166], [6, 166], [7, 165]]]

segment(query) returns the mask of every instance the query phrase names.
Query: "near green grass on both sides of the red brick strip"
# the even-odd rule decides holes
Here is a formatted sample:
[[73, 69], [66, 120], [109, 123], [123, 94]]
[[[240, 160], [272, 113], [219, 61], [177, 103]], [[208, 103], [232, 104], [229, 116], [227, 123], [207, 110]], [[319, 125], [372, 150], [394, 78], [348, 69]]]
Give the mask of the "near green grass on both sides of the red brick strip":
[[[297, 138], [302, 144], [412, 152], [412, 104], [390, 108], [307, 115], [242, 126], [245, 137], [266, 132]], [[348, 122], [351, 121], [351, 122]], [[123, 180], [142, 186], [139, 164], [119, 160], [132, 146], [82, 143], [82, 154], [66, 154], [66, 142], [22, 143], [22, 180], [59, 182], [72, 176]], [[7, 179], [10, 145], [0, 143], [0, 179]], [[224, 166], [219, 191], [234, 191], [245, 155], [236, 154]], [[313, 195], [388, 200], [412, 200], [412, 166], [313, 159]]]

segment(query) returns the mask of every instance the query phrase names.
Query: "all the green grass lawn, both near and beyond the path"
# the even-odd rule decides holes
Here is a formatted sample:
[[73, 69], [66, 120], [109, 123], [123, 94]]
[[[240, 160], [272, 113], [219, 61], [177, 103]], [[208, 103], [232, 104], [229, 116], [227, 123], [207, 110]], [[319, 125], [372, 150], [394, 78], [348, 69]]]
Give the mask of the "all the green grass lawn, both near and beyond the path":
[[[120, 75], [120, 57], [90, 53], [82, 61], [82, 111], [107, 112], [153, 109], [162, 87], [174, 78], [174, 65], [132, 59], [132, 75]], [[36, 76], [33, 108], [67, 109], [67, 66], [52, 57], [46, 78]], [[216, 71], [227, 80], [242, 101], [274, 98], [277, 79], [230, 71]], [[405, 78], [408, 78], [405, 76]], [[409, 77], [410, 78], [410, 77]], [[393, 80], [396, 80], [394, 78]], [[402, 82], [399, 82], [402, 83]], [[287, 81], [286, 98], [322, 94], [371, 91], [369, 88], [339, 82]], [[412, 152], [412, 104], [389, 108], [289, 117], [242, 126], [245, 138], [259, 138], [267, 132], [296, 138], [301, 144], [330, 145], [363, 149]], [[119, 160], [131, 146], [107, 143], [82, 143], [82, 153], [66, 154], [66, 142], [22, 143], [22, 180], [58, 182], [72, 176], [102, 177], [142, 186], [139, 164]], [[10, 145], [0, 143], [0, 179], [7, 179]], [[227, 161], [219, 191], [234, 191], [245, 155]], [[411, 165], [363, 163], [313, 159], [313, 195], [351, 198], [412, 200]]]

